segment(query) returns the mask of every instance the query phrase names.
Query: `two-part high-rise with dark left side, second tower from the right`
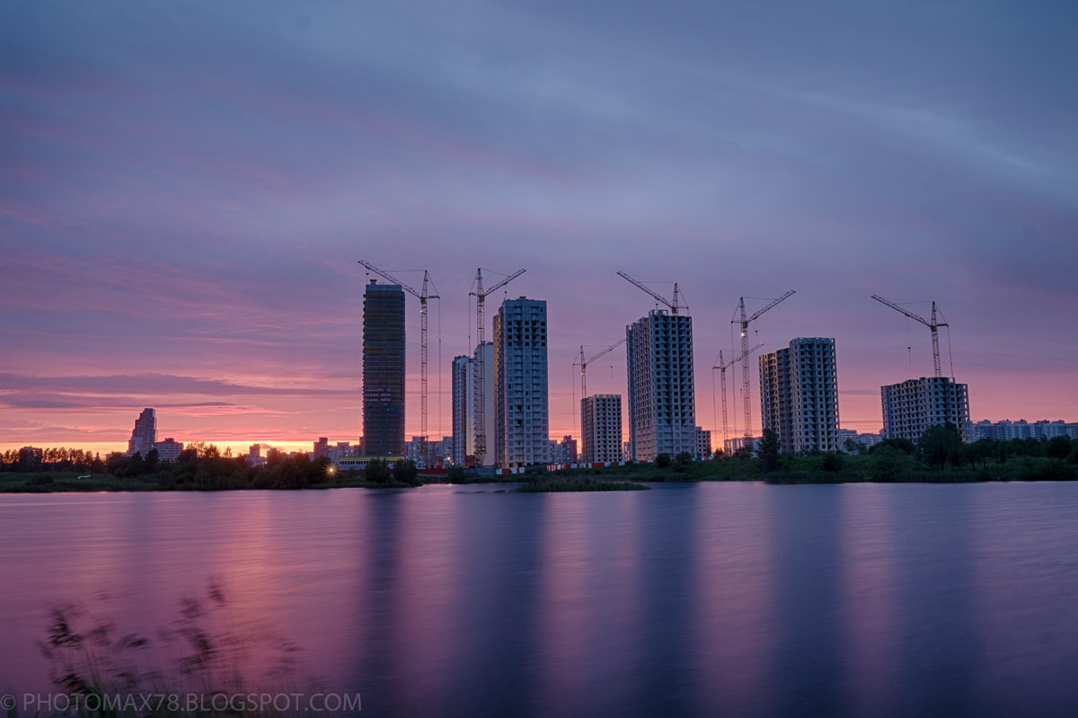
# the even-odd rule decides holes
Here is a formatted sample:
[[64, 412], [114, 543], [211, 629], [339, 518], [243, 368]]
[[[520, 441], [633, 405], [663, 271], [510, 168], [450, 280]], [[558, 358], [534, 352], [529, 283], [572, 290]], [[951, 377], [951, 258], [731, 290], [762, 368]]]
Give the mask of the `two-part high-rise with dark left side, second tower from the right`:
[[761, 426], [778, 434], [780, 451], [842, 450], [834, 340], [801, 337], [760, 357]]

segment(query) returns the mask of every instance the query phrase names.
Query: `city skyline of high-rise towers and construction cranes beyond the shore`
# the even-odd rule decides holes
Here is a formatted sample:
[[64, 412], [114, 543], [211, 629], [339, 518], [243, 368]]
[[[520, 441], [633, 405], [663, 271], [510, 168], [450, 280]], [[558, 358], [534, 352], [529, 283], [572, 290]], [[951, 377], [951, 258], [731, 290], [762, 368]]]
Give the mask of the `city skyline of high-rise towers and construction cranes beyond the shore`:
[[[328, 437], [319, 437], [313, 441], [309, 457], [326, 457], [344, 468], [363, 468], [370, 458], [406, 458], [420, 468], [441, 469], [456, 465], [481, 472], [515, 473], [530, 466], [653, 461], [660, 454], [687, 453], [695, 458], [710, 458], [719, 452], [733, 455], [751, 451], [757, 437], [751, 429], [751, 402], [744, 388], [744, 433], [729, 436], [725, 370], [741, 361], [747, 388], [749, 355], [762, 345], [749, 349], [747, 342], [743, 342], [742, 353], [729, 362], [723, 362], [721, 353], [719, 355], [720, 365], [715, 369], [722, 370], [724, 436], [721, 447], [715, 447], [711, 432], [696, 424], [692, 317], [679, 312], [685, 307], [678, 305], [677, 287], [674, 301], [668, 302], [632, 277], [619, 274], [667, 306], [667, 309], [652, 309], [627, 325], [624, 340], [592, 358], [625, 344], [628, 441], [622, 441], [622, 396], [586, 395], [588, 360], [583, 347], [578, 361], [581, 368], [580, 436], [550, 438], [547, 302], [526, 296], [506, 299], [501, 303], [494, 317], [493, 341], [483, 341], [480, 331], [480, 341], [471, 356], [453, 358], [452, 434], [438, 440], [427, 436], [405, 439], [404, 290], [417, 296], [420, 294], [409, 287], [378, 284], [372, 279], [363, 294], [362, 437], [356, 442], [332, 443]], [[502, 280], [495, 288], [507, 281]], [[481, 275], [476, 275], [476, 285], [478, 293], [473, 293], [480, 299], [492, 291], [483, 291]], [[792, 293], [787, 292], [752, 317], [743, 318], [743, 336], [749, 321]], [[898, 305], [882, 298], [874, 299], [909, 315]], [[478, 314], [482, 328], [481, 303]], [[744, 300], [742, 314], [745, 317]], [[860, 453], [886, 439], [903, 439], [916, 444], [925, 430], [942, 424], [954, 425], [966, 443], [981, 439], [1049, 440], [1064, 436], [1078, 439], [1078, 424], [1063, 420], [972, 423], [968, 386], [939, 375], [935, 332], [936, 327], [942, 325], [936, 323], [935, 303], [931, 322], [909, 316], [932, 330], [937, 375], [909, 378], [880, 388], [883, 425], [880, 433], [858, 433], [840, 427], [834, 339], [797, 337], [788, 346], [757, 358], [761, 429], [775, 432], [782, 452]], [[426, 351], [423, 359], [421, 411], [423, 429], [426, 430]], [[156, 415], [153, 409], [147, 408], [135, 419], [125, 454], [147, 456], [155, 451], [158, 460], [176, 461], [183, 447], [183, 443], [172, 437], [157, 440]], [[23, 451], [36, 453], [41, 450], [26, 446]], [[262, 466], [271, 451], [275, 450], [270, 444], [250, 444], [244, 458], [252, 466]]]

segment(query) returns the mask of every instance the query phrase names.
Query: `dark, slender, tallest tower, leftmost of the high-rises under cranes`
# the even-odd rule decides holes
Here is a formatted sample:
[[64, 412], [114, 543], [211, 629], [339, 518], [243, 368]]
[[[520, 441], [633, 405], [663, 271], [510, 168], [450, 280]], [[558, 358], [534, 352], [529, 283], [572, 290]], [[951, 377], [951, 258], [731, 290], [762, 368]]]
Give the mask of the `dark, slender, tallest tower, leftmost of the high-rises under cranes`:
[[404, 290], [374, 279], [363, 293], [363, 450], [404, 455]]

